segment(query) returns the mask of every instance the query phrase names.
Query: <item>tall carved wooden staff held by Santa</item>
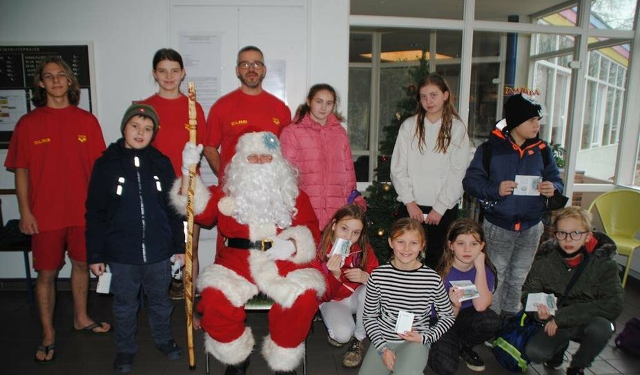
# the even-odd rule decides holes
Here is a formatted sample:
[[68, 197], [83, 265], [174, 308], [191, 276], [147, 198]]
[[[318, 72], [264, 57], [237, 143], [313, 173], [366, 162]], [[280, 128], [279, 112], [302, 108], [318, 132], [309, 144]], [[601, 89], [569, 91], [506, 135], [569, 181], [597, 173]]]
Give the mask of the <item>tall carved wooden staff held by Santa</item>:
[[[197, 119], [195, 112], [195, 84], [188, 83], [189, 98], [189, 142], [195, 144]], [[193, 189], [195, 185], [196, 164], [189, 164], [189, 186], [186, 194], [186, 247], [184, 249], [184, 310], [186, 311], [186, 345], [189, 352], [189, 369], [195, 369], [195, 352], [193, 350]]]

